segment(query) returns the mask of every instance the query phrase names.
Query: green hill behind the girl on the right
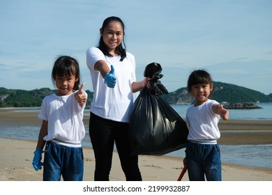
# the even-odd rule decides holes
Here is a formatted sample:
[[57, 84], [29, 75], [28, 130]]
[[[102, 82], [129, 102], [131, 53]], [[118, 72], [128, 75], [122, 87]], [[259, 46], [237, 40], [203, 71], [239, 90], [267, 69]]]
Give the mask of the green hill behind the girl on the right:
[[[225, 84], [213, 81], [213, 91], [211, 99], [218, 102], [241, 103], [241, 102], [272, 102], [272, 93], [265, 95], [259, 91], [254, 91], [242, 86], [234, 84]], [[188, 94], [187, 88], [179, 88], [178, 90], [161, 95], [161, 97], [169, 104], [191, 104], [194, 99]]]

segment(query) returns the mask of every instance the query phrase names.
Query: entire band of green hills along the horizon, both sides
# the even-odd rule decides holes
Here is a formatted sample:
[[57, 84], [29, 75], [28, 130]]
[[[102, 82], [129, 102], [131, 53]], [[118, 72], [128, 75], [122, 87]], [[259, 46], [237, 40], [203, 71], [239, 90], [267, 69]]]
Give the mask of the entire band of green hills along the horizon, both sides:
[[[242, 86], [234, 84], [225, 84], [214, 81], [211, 99], [218, 102], [241, 103], [241, 102], [272, 102], [272, 93], [265, 95], [258, 91], [254, 91]], [[40, 88], [31, 91], [19, 89], [0, 88], [0, 107], [40, 107], [45, 96], [56, 93], [56, 90], [50, 88]], [[88, 100], [87, 107], [89, 109], [93, 100], [93, 92], [87, 90]], [[187, 88], [179, 88], [178, 90], [161, 95], [168, 104], [191, 104], [193, 98], [188, 95]]]

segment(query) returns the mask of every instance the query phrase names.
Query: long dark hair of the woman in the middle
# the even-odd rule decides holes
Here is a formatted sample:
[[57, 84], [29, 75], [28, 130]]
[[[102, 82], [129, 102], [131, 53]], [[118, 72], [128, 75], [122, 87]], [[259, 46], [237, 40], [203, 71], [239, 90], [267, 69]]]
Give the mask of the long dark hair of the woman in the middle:
[[[123, 27], [123, 36], [125, 36], [125, 24], [123, 24], [123, 21], [119, 18], [119, 17], [116, 17], [116, 16], [111, 16], [111, 17], [107, 17], [103, 24], [102, 24], [102, 27], [101, 27], [101, 30], [104, 31], [104, 29], [106, 28], [106, 26], [110, 23], [110, 22], [120, 22], [122, 27]], [[100, 40], [98, 42], [98, 48], [103, 52], [103, 54], [105, 56], [109, 56], [109, 57], [112, 57], [111, 54], [109, 54], [108, 52], [108, 48], [107, 48], [107, 45], [105, 45], [105, 42], [103, 41], [103, 37], [100, 36]], [[125, 44], [125, 40], [123, 38], [122, 42], [120, 45], [118, 45], [116, 47], [116, 50], [117, 52], [120, 54], [121, 56], [121, 59], [120, 61], [123, 61], [123, 59], [126, 58], [126, 44]]]

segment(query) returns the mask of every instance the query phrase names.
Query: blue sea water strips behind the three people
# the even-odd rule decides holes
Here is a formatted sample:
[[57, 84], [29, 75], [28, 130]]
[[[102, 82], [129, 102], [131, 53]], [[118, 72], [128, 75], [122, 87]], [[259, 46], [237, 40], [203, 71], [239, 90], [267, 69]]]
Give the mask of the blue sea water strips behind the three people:
[[[229, 109], [231, 120], [272, 120], [272, 104], [257, 104], [262, 109]], [[190, 105], [171, 105], [173, 109], [185, 118]], [[17, 110], [22, 111], [23, 110]], [[26, 110], [29, 111], [29, 110]], [[38, 110], [36, 110], [38, 116]], [[84, 111], [84, 117], [89, 117], [89, 110]], [[85, 126], [86, 136], [82, 145], [91, 148], [89, 127]], [[272, 127], [271, 127], [272, 130]], [[34, 125], [0, 125], [0, 137], [13, 139], [38, 140], [40, 127]], [[272, 169], [272, 144], [266, 145], [220, 145], [222, 163], [255, 166]], [[167, 154], [173, 157], [185, 157], [185, 148]], [[181, 162], [182, 164], [182, 162]]]

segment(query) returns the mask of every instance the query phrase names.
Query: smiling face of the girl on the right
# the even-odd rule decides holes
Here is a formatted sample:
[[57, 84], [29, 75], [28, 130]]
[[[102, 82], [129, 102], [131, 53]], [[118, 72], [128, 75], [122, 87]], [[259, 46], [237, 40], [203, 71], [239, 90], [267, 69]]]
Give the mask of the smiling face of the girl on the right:
[[213, 84], [192, 85], [190, 91], [195, 98], [195, 107], [197, 107], [209, 99], [209, 95], [211, 94], [211, 91], [213, 91]]

